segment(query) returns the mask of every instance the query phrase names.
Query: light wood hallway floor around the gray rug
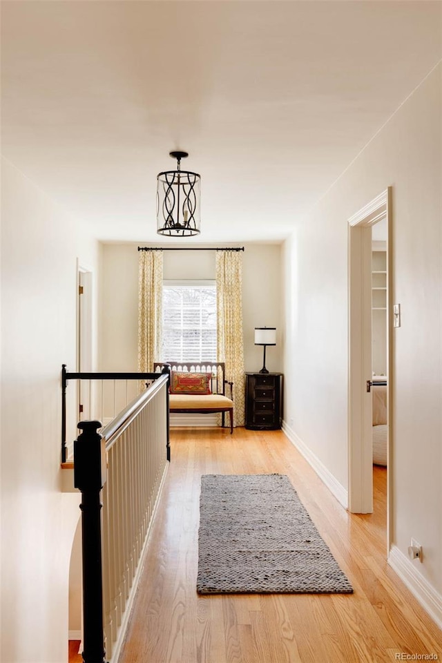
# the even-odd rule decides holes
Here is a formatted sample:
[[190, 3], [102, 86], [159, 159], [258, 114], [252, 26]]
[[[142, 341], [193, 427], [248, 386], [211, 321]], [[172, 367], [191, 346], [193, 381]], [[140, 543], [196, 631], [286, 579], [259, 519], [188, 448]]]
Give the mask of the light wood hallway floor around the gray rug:
[[[281, 431], [173, 429], [171, 454], [119, 663], [441, 660], [442, 632], [385, 561], [384, 468], [374, 513], [349, 515]], [[354, 594], [197, 595], [201, 475], [270, 472], [289, 476]]]

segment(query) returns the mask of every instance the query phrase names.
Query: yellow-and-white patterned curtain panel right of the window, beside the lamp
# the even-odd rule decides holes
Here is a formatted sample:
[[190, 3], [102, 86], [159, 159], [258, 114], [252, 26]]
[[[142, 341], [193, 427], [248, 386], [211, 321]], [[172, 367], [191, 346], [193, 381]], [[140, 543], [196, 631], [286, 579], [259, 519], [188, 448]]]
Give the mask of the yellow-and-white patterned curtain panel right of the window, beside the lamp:
[[216, 252], [218, 361], [233, 382], [233, 425], [244, 425], [244, 343], [242, 337], [242, 254]]

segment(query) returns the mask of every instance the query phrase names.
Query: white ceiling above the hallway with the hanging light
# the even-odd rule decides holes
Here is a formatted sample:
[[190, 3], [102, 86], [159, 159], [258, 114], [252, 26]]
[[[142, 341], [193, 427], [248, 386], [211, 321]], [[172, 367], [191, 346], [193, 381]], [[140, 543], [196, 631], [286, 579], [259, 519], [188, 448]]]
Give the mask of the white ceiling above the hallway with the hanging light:
[[440, 1], [1, 12], [3, 155], [103, 240], [167, 241], [156, 175], [178, 148], [202, 175], [189, 241], [282, 240], [441, 58]]

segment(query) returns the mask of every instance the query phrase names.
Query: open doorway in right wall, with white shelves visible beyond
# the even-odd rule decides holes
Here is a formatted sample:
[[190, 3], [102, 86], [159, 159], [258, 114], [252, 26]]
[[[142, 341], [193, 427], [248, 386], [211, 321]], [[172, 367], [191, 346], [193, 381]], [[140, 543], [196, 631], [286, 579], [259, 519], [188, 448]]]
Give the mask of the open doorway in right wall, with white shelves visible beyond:
[[[392, 449], [391, 189], [349, 218], [349, 511], [373, 511], [374, 416], [385, 403], [387, 541]], [[379, 234], [383, 231], [383, 238]], [[383, 392], [381, 392], [383, 387]], [[379, 422], [379, 419], [377, 420]], [[381, 425], [378, 423], [378, 425]]]

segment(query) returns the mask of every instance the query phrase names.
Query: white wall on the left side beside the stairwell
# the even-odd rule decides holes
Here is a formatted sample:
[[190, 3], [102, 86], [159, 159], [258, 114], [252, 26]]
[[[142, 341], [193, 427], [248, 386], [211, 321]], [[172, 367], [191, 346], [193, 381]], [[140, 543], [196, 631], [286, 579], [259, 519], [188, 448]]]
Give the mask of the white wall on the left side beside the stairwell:
[[60, 374], [98, 246], [5, 160], [1, 202], [1, 660], [61, 663], [79, 495], [60, 490]]

